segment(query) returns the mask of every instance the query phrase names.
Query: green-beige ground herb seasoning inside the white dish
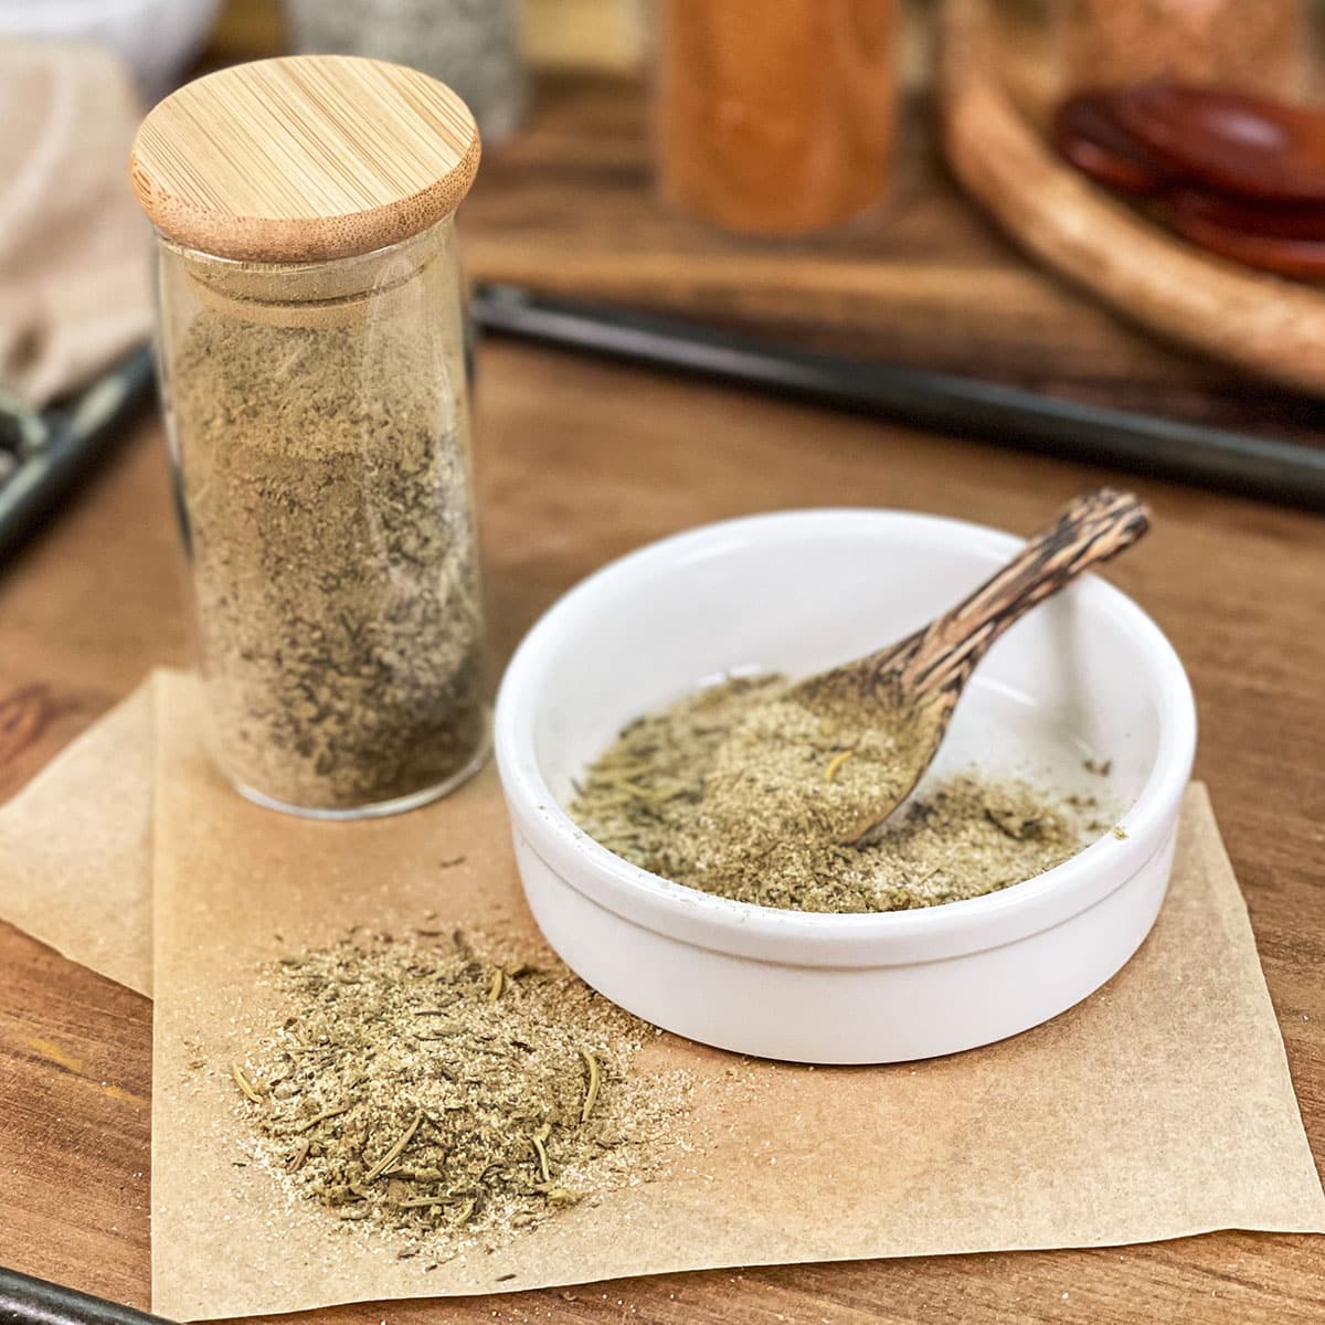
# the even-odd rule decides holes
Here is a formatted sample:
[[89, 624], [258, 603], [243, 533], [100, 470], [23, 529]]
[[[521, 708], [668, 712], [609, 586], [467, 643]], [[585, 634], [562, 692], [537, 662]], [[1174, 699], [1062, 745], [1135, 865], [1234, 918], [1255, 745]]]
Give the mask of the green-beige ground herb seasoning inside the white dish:
[[[1056, 802], [1026, 782], [975, 774], [939, 783], [877, 840], [841, 841], [876, 786], [894, 794], [888, 737], [792, 731], [772, 755], [768, 723], [788, 708], [778, 676], [726, 681], [637, 718], [587, 770], [570, 807], [596, 841], [702, 892], [787, 910], [934, 906], [1022, 882], [1104, 829], [1093, 800]], [[832, 795], [840, 788], [840, 798]]]

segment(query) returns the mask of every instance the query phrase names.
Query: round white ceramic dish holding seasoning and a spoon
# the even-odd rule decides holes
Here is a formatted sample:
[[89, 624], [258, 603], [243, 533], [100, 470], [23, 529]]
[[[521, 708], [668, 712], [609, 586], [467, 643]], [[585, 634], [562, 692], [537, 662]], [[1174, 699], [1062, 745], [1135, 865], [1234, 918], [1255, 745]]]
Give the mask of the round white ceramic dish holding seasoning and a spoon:
[[636, 714], [723, 670], [804, 674], [898, 639], [1019, 546], [900, 511], [757, 515], [655, 543], [562, 598], [506, 672], [496, 753], [530, 908], [571, 969], [669, 1031], [807, 1063], [988, 1044], [1109, 979], [1163, 900], [1196, 721], [1167, 640], [1093, 576], [994, 647], [941, 755], [1060, 786], [1092, 776], [1084, 757], [1112, 759], [1093, 786], [1125, 836], [1024, 884], [926, 910], [772, 910], [637, 869], [563, 810]]

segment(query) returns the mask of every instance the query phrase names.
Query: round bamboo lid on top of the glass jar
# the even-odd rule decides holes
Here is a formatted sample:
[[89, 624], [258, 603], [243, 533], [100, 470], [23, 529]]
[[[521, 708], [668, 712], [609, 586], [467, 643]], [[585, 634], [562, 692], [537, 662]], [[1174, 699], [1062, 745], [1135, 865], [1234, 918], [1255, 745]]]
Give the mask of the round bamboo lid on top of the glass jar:
[[313, 262], [396, 244], [456, 209], [478, 127], [445, 83], [355, 56], [288, 56], [187, 83], [134, 139], [134, 192], [187, 248]]

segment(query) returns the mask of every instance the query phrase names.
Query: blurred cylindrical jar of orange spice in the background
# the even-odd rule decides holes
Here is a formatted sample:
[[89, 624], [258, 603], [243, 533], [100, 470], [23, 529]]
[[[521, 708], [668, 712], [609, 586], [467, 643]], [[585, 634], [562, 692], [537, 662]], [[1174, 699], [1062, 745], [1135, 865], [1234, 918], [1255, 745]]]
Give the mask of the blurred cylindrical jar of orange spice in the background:
[[750, 235], [852, 221], [886, 196], [897, 0], [661, 0], [664, 197]]

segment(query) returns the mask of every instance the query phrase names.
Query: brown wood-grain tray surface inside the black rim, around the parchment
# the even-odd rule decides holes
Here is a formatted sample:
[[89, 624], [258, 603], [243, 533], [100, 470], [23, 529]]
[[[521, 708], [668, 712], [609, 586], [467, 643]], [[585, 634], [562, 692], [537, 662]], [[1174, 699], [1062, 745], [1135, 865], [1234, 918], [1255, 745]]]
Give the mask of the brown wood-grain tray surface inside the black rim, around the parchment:
[[[1109, 477], [509, 344], [486, 348], [478, 405], [488, 586], [504, 656], [574, 580], [698, 521], [871, 502], [1026, 530]], [[1325, 525], [1158, 482], [1138, 492], [1154, 530], [1110, 578], [1155, 616], [1191, 672], [1198, 774], [1248, 898], [1321, 1162], [1325, 635], [1304, 623], [1325, 607]], [[0, 795], [147, 666], [180, 659], [176, 564], [162, 444], [144, 427], [0, 579], [0, 697], [41, 685], [56, 706], [0, 767]], [[12, 930], [0, 930], [0, 1260], [146, 1305], [148, 1125], [139, 1101], [151, 1008]], [[371, 1304], [298, 1320], [1279, 1325], [1318, 1320], [1320, 1298], [1318, 1239], [1227, 1232]]]

